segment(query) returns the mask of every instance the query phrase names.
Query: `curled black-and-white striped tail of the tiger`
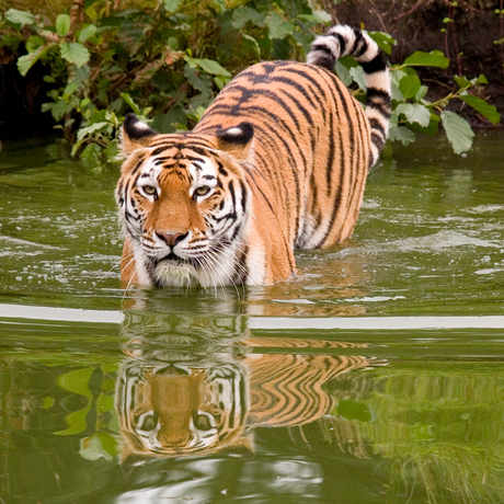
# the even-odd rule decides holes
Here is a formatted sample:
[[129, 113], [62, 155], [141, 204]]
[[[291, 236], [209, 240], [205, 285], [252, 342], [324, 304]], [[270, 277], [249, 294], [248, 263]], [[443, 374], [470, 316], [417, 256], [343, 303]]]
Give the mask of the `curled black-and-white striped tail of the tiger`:
[[378, 160], [389, 133], [392, 96], [383, 51], [367, 33], [350, 26], [336, 25], [311, 44], [307, 62], [332, 71], [336, 60], [348, 55], [362, 65], [366, 77], [366, 115], [371, 126], [370, 168]]

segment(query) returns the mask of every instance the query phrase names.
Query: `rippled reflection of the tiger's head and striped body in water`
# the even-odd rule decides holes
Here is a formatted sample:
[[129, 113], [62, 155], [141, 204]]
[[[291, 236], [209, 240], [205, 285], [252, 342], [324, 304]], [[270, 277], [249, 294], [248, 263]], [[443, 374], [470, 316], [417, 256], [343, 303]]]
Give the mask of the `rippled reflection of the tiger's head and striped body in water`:
[[123, 460], [251, 451], [254, 427], [320, 419], [334, 406], [324, 386], [373, 360], [332, 355], [334, 348], [365, 346], [358, 344], [247, 332], [231, 339], [220, 333], [208, 343], [183, 332], [136, 336], [125, 346], [116, 385]]

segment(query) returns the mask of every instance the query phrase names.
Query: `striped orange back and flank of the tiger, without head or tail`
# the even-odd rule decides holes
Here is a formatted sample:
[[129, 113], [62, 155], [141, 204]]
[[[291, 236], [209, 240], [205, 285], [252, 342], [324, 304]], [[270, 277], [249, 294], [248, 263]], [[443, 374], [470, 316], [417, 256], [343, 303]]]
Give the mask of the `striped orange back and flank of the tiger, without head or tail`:
[[254, 65], [225, 88], [195, 131], [214, 134], [241, 121], [254, 128], [247, 171], [254, 201], [276, 216], [286, 247], [347, 238], [369, 167], [370, 128], [342, 82], [312, 65]]

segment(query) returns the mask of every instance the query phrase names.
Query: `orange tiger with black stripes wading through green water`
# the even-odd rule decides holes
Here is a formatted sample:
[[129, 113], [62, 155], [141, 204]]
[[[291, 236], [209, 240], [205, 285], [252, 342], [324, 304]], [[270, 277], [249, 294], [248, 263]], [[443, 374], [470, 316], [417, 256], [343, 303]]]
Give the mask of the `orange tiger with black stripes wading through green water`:
[[[365, 108], [333, 72], [353, 56]], [[116, 188], [126, 286], [260, 286], [296, 275], [296, 249], [355, 227], [388, 137], [385, 54], [335, 25], [306, 62], [263, 61], [234, 77], [192, 131], [158, 134], [134, 114], [121, 133]]]

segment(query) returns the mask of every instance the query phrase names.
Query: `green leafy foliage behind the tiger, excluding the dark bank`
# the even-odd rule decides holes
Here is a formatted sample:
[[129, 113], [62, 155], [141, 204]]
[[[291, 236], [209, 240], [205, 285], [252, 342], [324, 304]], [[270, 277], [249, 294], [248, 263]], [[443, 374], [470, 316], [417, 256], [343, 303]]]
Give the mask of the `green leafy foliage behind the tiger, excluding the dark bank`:
[[[101, 0], [87, 0], [83, 11], [76, 5], [54, 21], [9, 9], [0, 44], [18, 54], [21, 75], [44, 66], [50, 90], [43, 110], [72, 142], [72, 153], [92, 165], [117, 153], [126, 113], [135, 112], [160, 133], [188, 129], [232, 75], [260, 59], [303, 59], [314, 33], [330, 23], [329, 14], [307, 0], [162, 0], [123, 11]], [[371, 36], [390, 54], [390, 35]], [[425, 100], [428, 89], [414, 68], [447, 65], [440, 51], [417, 51], [392, 67], [392, 140], [408, 145], [415, 133], [435, 134], [442, 123], [455, 152], [469, 150], [470, 126], [445, 111], [454, 100], [499, 122], [493, 106], [469, 94], [485, 83], [483, 76], [456, 78], [457, 91], [436, 102]], [[336, 71], [345, 84], [357, 84], [357, 98], [364, 95], [363, 71], [355, 61], [344, 58]]]

